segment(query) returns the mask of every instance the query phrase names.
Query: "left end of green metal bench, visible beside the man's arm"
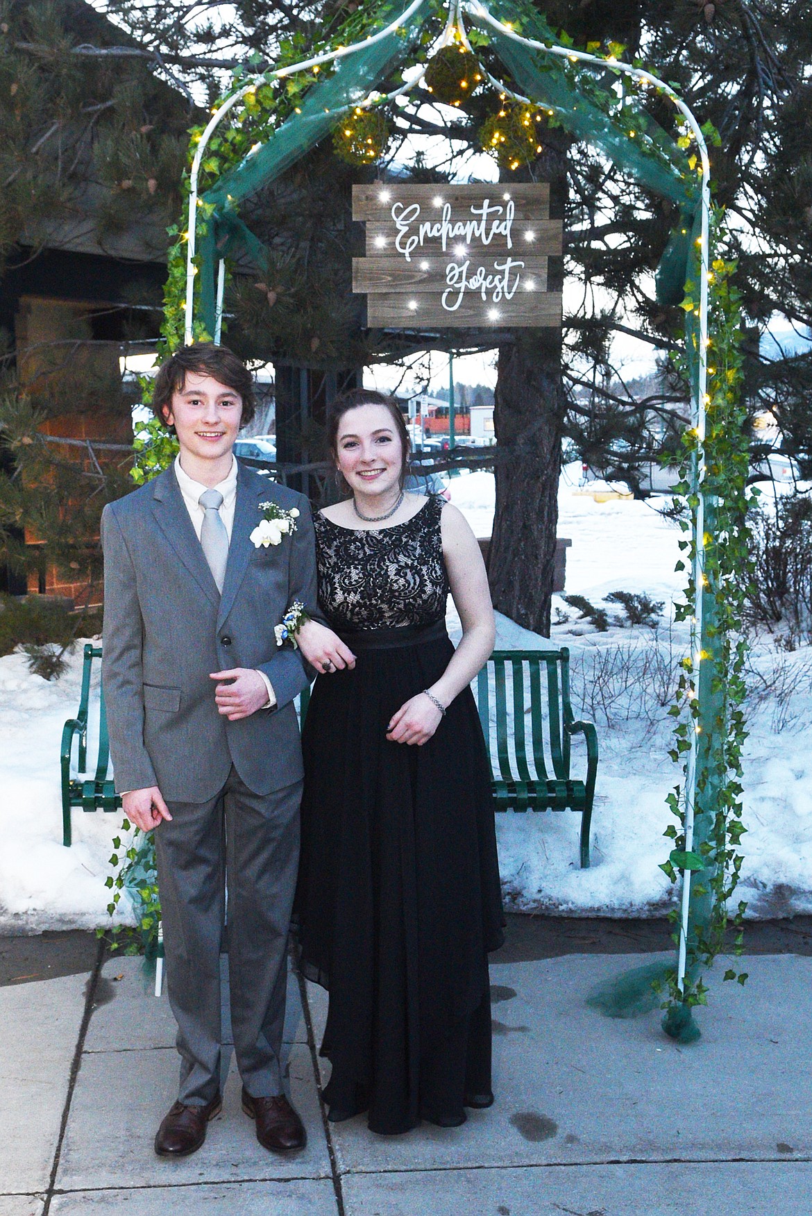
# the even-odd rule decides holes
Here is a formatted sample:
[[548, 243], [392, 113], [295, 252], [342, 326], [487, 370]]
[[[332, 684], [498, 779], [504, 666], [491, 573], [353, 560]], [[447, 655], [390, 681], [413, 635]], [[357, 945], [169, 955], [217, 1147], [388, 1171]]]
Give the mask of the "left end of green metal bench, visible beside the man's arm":
[[[62, 727], [62, 748], [60, 761], [62, 766], [62, 844], [71, 844], [71, 811], [80, 806], [83, 811], [115, 811], [122, 799], [115, 793], [109, 765], [109, 742], [107, 738], [107, 715], [105, 713], [105, 692], [101, 692], [98, 706], [98, 754], [96, 771], [88, 770], [88, 708], [90, 704], [90, 676], [94, 659], [101, 662], [101, 646], [89, 642], [84, 651], [81, 669], [81, 694], [79, 711], [69, 717]], [[75, 773], [72, 776], [74, 742], [78, 737]]]

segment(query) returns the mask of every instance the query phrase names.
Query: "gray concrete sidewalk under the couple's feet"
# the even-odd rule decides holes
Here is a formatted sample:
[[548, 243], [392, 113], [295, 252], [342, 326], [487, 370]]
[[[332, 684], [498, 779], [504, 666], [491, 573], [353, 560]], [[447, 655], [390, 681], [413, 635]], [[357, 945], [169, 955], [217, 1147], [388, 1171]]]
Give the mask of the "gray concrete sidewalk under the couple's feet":
[[0, 1216], [810, 1216], [812, 958], [748, 957], [746, 986], [712, 981], [703, 1037], [680, 1047], [656, 1012], [619, 1021], [585, 1003], [656, 957], [496, 962], [495, 1107], [391, 1138], [326, 1122], [326, 996], [309, 987], [303, 1010], [292, 976], [286, 1051], [309, 1144], [291, 1160], [258, 1145], [232, 1062], [203, 1149], [156, 1158], [177, 1065], [140, 959], [2, 987]]

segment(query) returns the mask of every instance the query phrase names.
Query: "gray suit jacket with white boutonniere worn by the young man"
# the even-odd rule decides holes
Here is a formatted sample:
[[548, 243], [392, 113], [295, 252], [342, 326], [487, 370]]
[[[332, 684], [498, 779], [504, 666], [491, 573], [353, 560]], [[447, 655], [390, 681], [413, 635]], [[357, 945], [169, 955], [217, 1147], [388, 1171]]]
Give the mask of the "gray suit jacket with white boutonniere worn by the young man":
[[[297, 531], [267, 548], [250, 533], [260, 502], [299, 508]], [[300, 494], [239, 465], [222, 596], [184, 503], [174, 467], [102, 514], [105, 646], [102, 680], [115, 789], [158, 786], [168, 801], [203, 803], [231, 765], [255, 794], [301, 777], [293, 698], [308, 683], [274, 626], [294, 599], [316, 610], [310, 505]], [[259, 668], [276, 693], [272, 710], [230, 722], [209, 672]]]

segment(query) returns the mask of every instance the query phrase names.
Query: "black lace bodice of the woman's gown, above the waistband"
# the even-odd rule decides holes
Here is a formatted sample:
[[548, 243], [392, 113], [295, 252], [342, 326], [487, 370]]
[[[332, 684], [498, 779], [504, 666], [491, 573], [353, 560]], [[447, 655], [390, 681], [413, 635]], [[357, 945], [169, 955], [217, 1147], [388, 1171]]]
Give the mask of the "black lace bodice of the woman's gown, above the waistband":
[[337, 630], [429, 625], [445, 617], [444, 501], [390, 528], [355, 530], [316, 514], [318, 604]]

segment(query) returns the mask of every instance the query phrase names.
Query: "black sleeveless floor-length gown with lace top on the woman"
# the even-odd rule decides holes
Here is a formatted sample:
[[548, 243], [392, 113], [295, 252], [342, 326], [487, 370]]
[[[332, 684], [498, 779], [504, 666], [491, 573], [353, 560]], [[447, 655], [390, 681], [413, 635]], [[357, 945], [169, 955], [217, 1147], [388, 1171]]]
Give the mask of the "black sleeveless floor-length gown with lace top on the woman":
[[503, 941], [490, 762], [466, 688], [423, 747], [387, 725], [453, 647], [432, 497], [373, 531], [316, 514], [318, 601], [356, 654], [318, 676], [303, 731], [299, 964], [329, 990], [332, 1120], [456, 1126], [491, 1088], [487, 951]]

